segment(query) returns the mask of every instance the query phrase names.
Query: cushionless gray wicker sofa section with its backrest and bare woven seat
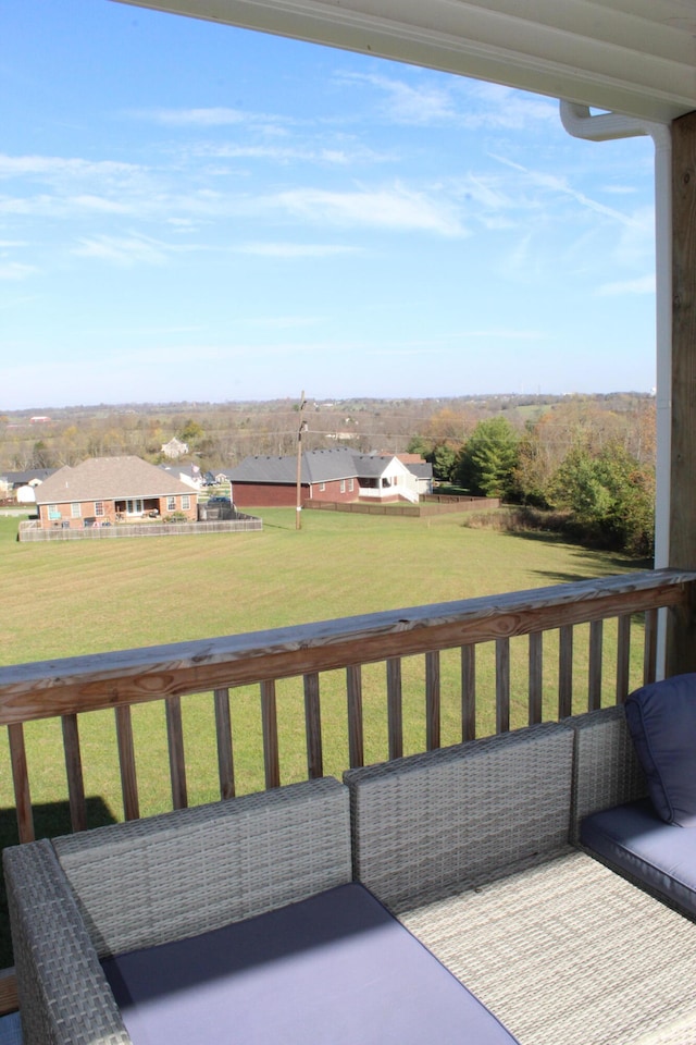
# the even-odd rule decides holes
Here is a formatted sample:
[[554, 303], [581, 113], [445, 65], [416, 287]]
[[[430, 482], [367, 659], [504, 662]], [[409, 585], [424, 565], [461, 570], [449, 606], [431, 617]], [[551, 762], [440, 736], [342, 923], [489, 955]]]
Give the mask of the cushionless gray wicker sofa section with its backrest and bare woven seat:
[[623, 709], [345, 779], [353, 873], [522, 1045], [696, 1043], [696, 926], [576, 845], [645, 794]]

